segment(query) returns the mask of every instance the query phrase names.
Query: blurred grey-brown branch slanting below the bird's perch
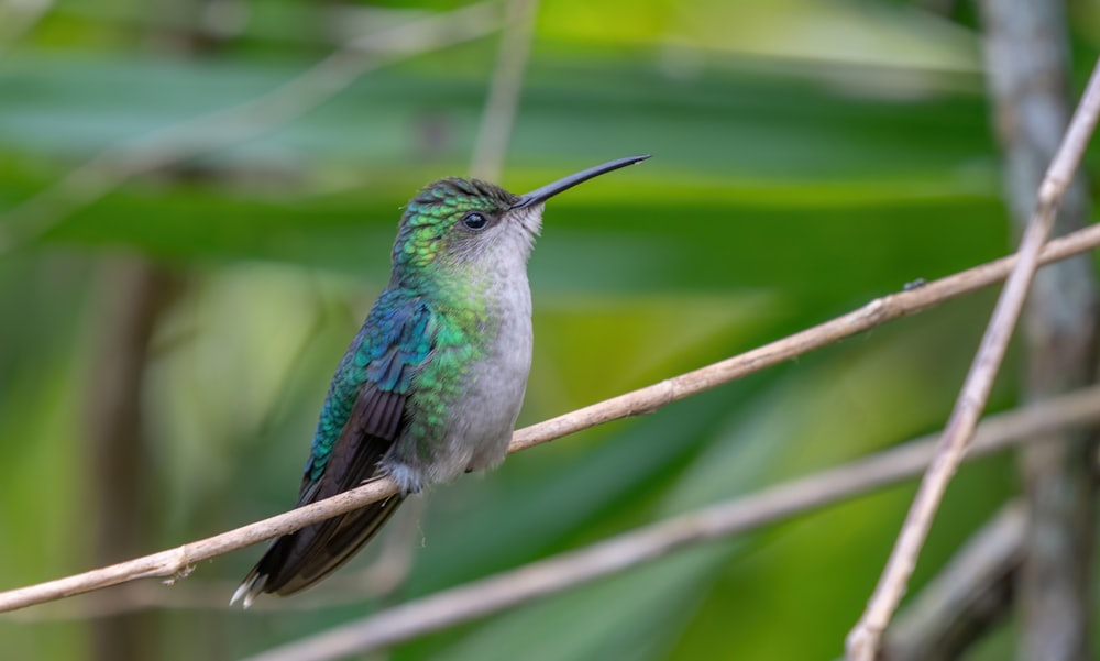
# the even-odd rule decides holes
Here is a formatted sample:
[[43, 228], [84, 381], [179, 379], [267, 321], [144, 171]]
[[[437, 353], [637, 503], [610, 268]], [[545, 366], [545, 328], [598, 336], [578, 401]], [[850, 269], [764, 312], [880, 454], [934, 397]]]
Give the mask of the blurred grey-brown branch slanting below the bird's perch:
[[[1052, 426], [1100, 421], [1100, 387], [991, 416], [968, 459], [1042, 437]], [[377, 650], [601, 576], [715, 540], [820, 509], [917, 475], [936, 452], [936, 434], [785, 484], [638, 528], [590, 547], [408, 602], [246, 661], [323, 661]]]

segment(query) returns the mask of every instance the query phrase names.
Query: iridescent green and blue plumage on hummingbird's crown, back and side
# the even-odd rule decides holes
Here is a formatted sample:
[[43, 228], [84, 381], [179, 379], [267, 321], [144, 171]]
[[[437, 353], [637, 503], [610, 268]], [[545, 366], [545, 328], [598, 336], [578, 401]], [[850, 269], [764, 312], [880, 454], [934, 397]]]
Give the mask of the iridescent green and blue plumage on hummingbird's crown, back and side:
[[442, 436], [449, 404], [461, 396], [466, 372], [492, 342], [487, 329], [494, 326], [476, 274], [439, 257], [450, 253], [451, 227], [465, 211], [503, 210], [515, 200], [481, 181], [443, 179], [409, 202], [393, 250], [402, 278], [375, 302], [337, 368], [306, 465], [304, 498], [323, 475], [365, 384], [408, 395], [407, 427], [395, 452], [430, 461], [430, 441]]

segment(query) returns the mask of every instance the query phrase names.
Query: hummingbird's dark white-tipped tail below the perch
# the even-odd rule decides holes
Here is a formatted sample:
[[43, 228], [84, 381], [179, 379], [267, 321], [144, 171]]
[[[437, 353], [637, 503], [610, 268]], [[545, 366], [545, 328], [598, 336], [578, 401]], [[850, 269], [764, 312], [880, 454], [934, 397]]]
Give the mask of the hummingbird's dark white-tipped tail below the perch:
[[404, 499], [391, 496], [276, 539], [241, 582], [230, 605], [243, 597], [248, 608], [262, 593], [287, 596], [319, 582], [370, 541]]

